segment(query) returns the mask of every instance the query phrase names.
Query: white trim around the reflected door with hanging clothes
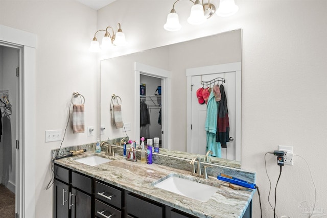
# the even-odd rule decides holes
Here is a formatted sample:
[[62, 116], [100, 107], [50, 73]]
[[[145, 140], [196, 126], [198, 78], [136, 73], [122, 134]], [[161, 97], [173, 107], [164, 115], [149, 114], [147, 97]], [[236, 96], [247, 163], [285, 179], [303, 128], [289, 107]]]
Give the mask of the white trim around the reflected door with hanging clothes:
[[[235, 103], [236, 107], [236, 120], [239, 121], [239, 125], [236, 126], [235, 129], [235, 137], [239, 138], [240, 140], [237, 140], [235, 143], [235, 159], [237, 161], [241, 161], [241, 83], [242, 83], [242, 62], [233, 62], [233, 63], [227, 63], [227, 64], [218, 64], [218, 65], [212, 65], [212, 66], [204, 66], [204, 67], [195, 67], [195, 68], [189, 68], [186, 69], [186, 84], [188, 87], [188, 91], [186, 92], [186, 149], [187, 152], [191, 151], [192, 141], [191, 141], [191, 134], [192, 134], [192, 113], [190, 108], [192, 107], [192, 92], [191, 92], [191, 86], [192, 86], [192, 76], [200, 76], [200, 75], [208, 75], [208, 74], [221, 74], [223, 72], [236, 72], [236, 93], [239, 93], [239, 99], [237, 98]], [[190, 89], [189, 89], [190, 88]]]

